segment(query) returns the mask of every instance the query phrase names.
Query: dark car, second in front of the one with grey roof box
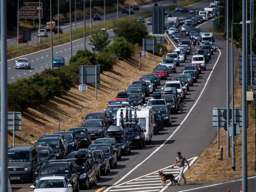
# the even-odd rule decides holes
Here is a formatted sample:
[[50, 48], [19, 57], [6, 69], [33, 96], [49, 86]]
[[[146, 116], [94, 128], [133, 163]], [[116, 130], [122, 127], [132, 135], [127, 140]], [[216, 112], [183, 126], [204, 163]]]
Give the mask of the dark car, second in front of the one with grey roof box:
[[109, 158], [111, 168], [117, 165], [117, 151], [113, 149], [110, 144], [92, 144], [87, 148], [88, 150], [102, 150]]

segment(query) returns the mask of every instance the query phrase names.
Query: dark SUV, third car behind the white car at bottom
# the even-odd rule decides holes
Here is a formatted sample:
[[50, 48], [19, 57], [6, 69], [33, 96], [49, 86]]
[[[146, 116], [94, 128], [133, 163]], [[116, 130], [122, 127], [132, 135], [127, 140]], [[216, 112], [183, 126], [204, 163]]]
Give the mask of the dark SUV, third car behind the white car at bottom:
[[37, 140], [36, 146], [51, 146], [56, 154], [56, 159], [63, 159], [68, 155], [68, 146], [63, 137], [57, 134], [51, 137], [40, 137]]

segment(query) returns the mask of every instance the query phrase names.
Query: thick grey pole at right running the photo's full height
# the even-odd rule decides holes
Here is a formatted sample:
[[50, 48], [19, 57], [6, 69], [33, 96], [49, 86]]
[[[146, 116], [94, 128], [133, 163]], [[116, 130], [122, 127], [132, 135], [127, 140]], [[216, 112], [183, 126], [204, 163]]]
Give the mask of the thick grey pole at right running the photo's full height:
[[246, 0], [242, 0], [242, 188], [247, 192], [247, 126], [246, 126]]

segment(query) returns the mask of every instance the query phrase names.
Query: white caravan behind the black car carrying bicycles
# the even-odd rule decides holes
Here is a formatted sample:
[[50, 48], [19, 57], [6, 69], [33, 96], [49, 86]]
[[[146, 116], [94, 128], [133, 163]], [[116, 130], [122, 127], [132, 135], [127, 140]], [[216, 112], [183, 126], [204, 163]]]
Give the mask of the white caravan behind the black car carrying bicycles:
[[[116, 125], [120, 125], [120, 113], [123, 109], [124, 119], [125, 119], [125, 108], [118, 109], [116, 113]], [[129, 110], [129, 108], [128, 108]], [[134, 118], [134, 108], [132, 110], [132, 118]], [[136, 106], [136, 113], [138, 122], [142, 129], [145, 129], [145, 141], [151, 142], [153, 137], [154, 127], [153, 127], [153, 108], [151, 106]]]

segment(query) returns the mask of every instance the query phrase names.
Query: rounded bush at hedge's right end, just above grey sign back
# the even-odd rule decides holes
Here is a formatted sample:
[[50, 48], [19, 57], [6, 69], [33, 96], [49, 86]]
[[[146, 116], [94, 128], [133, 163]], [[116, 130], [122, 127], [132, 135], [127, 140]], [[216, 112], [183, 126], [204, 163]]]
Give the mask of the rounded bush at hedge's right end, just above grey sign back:
[[109, 52], [100, 52], [97, 55], [97, 63], [100, 65], [100, 72], [110, 71], [113, 65], [116, 64], [116, 57]]

